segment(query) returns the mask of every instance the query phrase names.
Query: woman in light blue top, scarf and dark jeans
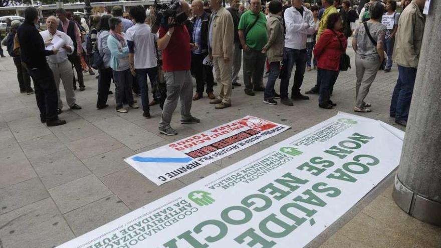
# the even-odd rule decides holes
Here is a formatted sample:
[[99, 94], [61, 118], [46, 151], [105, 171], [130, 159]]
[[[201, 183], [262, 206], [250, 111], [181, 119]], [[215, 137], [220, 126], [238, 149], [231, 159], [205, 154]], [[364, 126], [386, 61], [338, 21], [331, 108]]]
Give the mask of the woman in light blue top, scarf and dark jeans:
[[110, 34], [107, 38], [107, 47], [110, 50], [110, 68], [113, 70], [113, 82], [115, 83], [116, 111], [127, 113], [123, 108], [123, 100], [126, 100], [130, 108], [137, 109], [139, 106], [133, 102], [132, 74], [129, 65], [129, 48], [122, 33], [122, 23], [118, 18], [109, 20]]

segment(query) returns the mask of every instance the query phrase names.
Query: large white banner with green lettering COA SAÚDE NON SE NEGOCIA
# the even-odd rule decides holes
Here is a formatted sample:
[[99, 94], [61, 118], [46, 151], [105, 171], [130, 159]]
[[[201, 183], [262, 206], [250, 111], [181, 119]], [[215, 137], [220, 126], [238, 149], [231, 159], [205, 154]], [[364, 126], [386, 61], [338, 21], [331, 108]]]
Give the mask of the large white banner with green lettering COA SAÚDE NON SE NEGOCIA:
[[403, 136], [339, 113], [59, 247], [303, 247], [398, 165]]

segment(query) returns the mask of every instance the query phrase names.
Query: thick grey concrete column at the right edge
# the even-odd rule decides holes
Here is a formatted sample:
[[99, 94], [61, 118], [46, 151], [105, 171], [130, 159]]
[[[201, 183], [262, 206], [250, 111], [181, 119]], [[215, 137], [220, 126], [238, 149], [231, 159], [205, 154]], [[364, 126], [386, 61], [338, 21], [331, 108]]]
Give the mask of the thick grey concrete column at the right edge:
[[441, 226], [441, 1], [432, 0], [392, 193], [408, 214]]

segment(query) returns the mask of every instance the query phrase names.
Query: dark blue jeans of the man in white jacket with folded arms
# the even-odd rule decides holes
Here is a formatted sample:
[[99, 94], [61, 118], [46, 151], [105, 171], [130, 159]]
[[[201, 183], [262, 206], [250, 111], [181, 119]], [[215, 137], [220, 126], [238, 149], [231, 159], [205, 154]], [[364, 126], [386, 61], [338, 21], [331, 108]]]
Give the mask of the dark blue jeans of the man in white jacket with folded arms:
[[297, 50], [285, 48], [283, 52], [283, 73], [280, 81], [280, 98], [288, 97], [288, 86], [296, 64], [296, 73], [294, 74], [294, 84], [291, 88], [291, 94], [300, 94], [300, 87], [303, 83], [303, 75], [306, 69], [306, 49]]

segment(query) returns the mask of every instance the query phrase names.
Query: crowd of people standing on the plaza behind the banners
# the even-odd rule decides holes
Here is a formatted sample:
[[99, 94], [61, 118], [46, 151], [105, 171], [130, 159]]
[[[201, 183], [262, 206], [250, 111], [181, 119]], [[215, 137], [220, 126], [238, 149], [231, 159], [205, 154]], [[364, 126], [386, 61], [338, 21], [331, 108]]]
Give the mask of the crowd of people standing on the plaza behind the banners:
[[[371, 111], [372, 104], [365, 98], [378, 71], [390, 72], [396, 62], [399, 77], [390, 116], [405, 126], [424, 30], [424, 3], [404, 1], [399, 14], [395, 0], [371, 0], [360, 13], [350, 0], [322, 0], [320, 6], [303, 0], [285, 4], [250, 0], [247, 9], [239, 0], [231, 0], [229, 8], [222, 6], [222, 0], [193, 0], [191, 6], [179, 1], [176, 15], [162, 19], [156, 18], [155, 7], [133, 6], [124, 13], [116, 6], [111, 15], [90, 16], [88, 25], [58, 9], [47, 18], [48, 30], [43, 32], [36, 27], [37, 9], [29, 7], [24, 24], [11, 22], [2, 43], [14, 57], [21, 92], [32, 94], [32, 78], [41, 121], [48, 126], [66, 123], [58, 118], [63, 108], [60, 80], [69, 108], [81, 109], [75, 100], [76, 78], [80, 91], [84, 90], [83, 71], [94, 74], [93, 67], [99, 73], [97, 109], [109, 106], [113, 80], [117, 112], [141, 107], [142, 115], [151, 118], [149, 107], [160, 104], [159, 131], [176, 135], [170, 123], [178, 101], [182, 124], [200, 121], [190, 112], [192, 101], [201, 99], [204, 90], [215, 109], [232, 106], [232, 89], [242, 86], [238, 82], [241, 68], [246, 95], [262, 91], [266, 104], [276, 105], [280, 99], [293, 106], [293, 101], [318, 94], [318, 106], [332, 109], [336, 106], [331, 100], [334, 85], [340, 72], [351, 66], [346, 49], [352, 37], [354, 111]], [[60, 40], [62, 46], [57, 46]], [[316, 85], [304, 95], [305, 71], [313, 69], [317, 70]], [[275, 89], [278, 78], [279, 93]], [[141, 97], [141, 106], [133, 95]]]

